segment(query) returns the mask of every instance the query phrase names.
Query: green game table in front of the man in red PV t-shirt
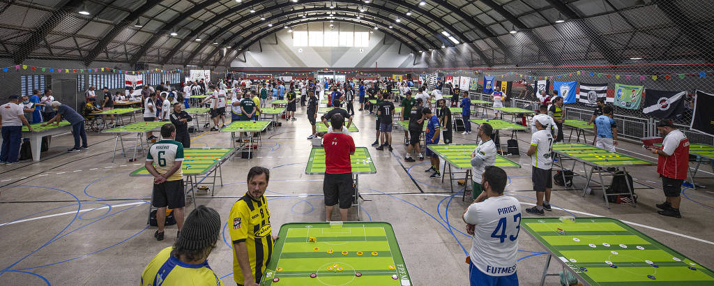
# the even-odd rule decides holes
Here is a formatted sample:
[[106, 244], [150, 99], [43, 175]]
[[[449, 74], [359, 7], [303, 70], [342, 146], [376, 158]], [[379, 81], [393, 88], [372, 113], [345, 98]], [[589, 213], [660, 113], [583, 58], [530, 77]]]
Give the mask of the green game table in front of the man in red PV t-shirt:
[[[356, 147], [355, 154], [351, 155], [350, 161], [352, 164], [353, 187], [355, 194], [353, 196], [352, 206], [357, 207], [357, 220], [359, 218], [359, 175], [361, 174], [376, 174], [377, 167], [372, 161], [369, 150], [366, 147]], [[305, 167], [305, 174], [325, 174], [325, 149], [314, 147], [310, 151], [308, 164]]]

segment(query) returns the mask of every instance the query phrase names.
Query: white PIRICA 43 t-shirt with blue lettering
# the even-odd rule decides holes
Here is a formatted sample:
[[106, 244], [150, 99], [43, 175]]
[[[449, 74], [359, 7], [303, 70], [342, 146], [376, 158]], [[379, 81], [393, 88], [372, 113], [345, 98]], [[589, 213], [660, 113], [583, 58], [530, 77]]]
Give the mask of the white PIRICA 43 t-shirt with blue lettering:
[[476, 225], [471, 242], [471, 263], [490, 276], [516, 273], [521, 204], [510, 196], [490, 197], [468, 206], [463, 219]]

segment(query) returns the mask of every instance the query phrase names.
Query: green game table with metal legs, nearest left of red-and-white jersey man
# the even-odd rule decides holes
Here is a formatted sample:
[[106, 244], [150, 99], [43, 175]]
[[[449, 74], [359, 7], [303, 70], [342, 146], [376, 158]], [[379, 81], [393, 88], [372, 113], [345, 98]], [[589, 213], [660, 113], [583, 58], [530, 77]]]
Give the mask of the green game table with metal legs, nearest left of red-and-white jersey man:
[[[573, 171], [575, 171], [575, 164], [578, 162], [583, 164], [583, 171], [588, 176], [588, 181], [585, 183], [585, 187], [583, 187], [583, 197], [585, 197], [585, 194], [588, 193], [588, 189], [590, 189], [590, 182], [593, 182], [593, 174], [598, 174], [598, 177], [600, 178], [600, 188], [603, 191], [603, 198], [605, 198], [605, 205], [608, 209], [610, 208], [610, 204], [608, 203], [607, 195], [605, 195], [605, 187], [607, 186], [603, 180], [603, 175], [608, 177], [612, 176], [613, 173], [603, 172], [604, 170], [602, 168], [613, 167], [622, 169], [622, 171], [625, 172], [627, 167], [657, 165], [657, 163], [630, 157], [618, 152], [608, 152], [605, 149], [600, 149], [598, 147], [583, 143], [553, 144], [553, 152], [558, 154], [558, 162], [553, 162], [553, 169], [555, 169], [556, 164], [559, 165], [560, 169], [565, 169], [563, 165], [564, 162], [568, 160], [573, 161], [573, 166], [570, 167], [570, 170]], [[588, 170], [588, 167], [590, 167], [590, 170]], [[629, 189], [629, 184], [626, 185], [628, 186], [628, 192], [620, 193], [620, 195], [628, 195], [634, 202], [635, 199], [633, 197], [633, 190]], [[608, 195], [618, 194], [610, 193]], [[632, 205], [635, 207], [634, 203]]]

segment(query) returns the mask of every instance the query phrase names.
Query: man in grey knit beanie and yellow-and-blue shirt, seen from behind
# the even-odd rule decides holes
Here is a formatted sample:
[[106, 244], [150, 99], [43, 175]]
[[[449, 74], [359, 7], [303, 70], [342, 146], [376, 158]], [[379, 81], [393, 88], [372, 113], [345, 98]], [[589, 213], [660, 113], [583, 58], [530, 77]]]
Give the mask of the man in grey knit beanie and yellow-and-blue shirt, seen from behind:
[[193, 209], [173, 247], [154, 257], [141, 274], [141, 285], [223, 285], [208, 266], [208, 255], [221, 234], [221, 216], [200, 205]]

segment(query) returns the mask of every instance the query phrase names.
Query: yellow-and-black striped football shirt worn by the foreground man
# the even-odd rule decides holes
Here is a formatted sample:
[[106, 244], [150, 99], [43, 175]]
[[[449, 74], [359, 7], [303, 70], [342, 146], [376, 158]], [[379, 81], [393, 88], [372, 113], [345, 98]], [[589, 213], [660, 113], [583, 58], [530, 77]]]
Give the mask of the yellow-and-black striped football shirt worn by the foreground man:
[[[273, 254], [273, 235], [266, 197], [261, 196], [256, 200], [248, 194], [243, 195], [233, 204], [228, 224], [232, 224], [228, 230], [231, 233], [233, 245], [238, 242], [246, 242], [248, 261], [253, 277], [256, 280], [261, 279]], [[238, 284], [245, 284], [235, 250], [233, 250], [233, 279]]]

